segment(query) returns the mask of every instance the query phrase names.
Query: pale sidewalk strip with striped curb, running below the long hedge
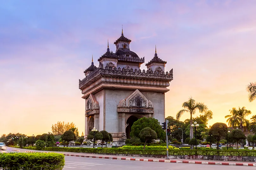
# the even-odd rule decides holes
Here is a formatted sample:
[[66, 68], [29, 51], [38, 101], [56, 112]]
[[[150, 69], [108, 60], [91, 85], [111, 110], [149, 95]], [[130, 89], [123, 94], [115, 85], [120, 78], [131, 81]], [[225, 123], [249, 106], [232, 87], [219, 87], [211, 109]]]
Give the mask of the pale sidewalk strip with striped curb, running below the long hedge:
[[87, 158], [100, 158], [100, 159], [116, 159], [127, 161], [151, 161], [151, 162], [168, 162], [168, 163], [192, 163], [192, 164], [208, 164], [208, 165], [236, 165], [236, 166], [256, 166], [256, 162], [241, 162], [241, 161], [214, 161], [214, 160], [193, 160], [193, 159], [170, 159], [165, 158], [149, 158], [149, 157], [133, 157], [133, 156], [118, 156], [118, 155], [100, 155], [100, 154], [87, 154], [87, 153], [74, 153], [74, 152], [56, 152], [56, 151], [40, 151], [9, 148], [9, 150], [16, 150], [20, 152], [54, 152], [64, 154], [66, 156], [77, 156]]

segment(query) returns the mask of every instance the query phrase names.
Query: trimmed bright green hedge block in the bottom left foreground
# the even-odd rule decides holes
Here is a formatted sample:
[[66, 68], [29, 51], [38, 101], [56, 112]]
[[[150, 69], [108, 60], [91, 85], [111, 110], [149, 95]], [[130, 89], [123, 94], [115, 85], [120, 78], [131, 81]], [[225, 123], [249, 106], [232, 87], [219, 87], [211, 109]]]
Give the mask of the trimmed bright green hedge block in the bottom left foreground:
[[3, 170], [61, 170], [64, 155], [57, 153], [3, 153], [0, 169]]

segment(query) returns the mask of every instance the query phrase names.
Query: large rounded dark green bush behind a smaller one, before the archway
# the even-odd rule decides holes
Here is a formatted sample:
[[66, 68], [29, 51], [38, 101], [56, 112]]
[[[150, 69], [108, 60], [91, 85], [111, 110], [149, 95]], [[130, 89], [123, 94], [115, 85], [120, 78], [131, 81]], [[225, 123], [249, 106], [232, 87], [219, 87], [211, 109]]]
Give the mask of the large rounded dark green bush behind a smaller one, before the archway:
[[157, 139], [164, 140], [165, 132], [162, 129], [162, 126], [160, 125], [157, 119], [151, 117], [143, 117], [133, 123], [133, 125], [131, 126], [131, 138], [139, 138], [140, 131], [145, 127], [150, 127], [153, 131], [155, 131], [157, 133]]

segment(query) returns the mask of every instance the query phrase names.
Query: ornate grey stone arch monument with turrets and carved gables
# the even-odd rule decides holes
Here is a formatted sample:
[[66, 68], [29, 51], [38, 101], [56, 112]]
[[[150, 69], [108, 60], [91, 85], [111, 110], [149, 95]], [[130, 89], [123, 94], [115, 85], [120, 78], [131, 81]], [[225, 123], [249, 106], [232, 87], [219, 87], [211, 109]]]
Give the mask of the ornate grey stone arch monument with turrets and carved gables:
[[157, 56], [145, 64], [144, 57], [130, 50], [131, 40], [123, 34], [114, 42], [113, 53], [107, 46], [99, 57], [99, 67], [93, 60], [79, 79], [79, 89], [85, 99], [85, 138], [96, 127], [112, 134], [114, 141], [130, 138], [131, 126], [142, 117], [165, 118], [165, 93], [173, 79], [173, 70], [165, 72], [167, 63]]

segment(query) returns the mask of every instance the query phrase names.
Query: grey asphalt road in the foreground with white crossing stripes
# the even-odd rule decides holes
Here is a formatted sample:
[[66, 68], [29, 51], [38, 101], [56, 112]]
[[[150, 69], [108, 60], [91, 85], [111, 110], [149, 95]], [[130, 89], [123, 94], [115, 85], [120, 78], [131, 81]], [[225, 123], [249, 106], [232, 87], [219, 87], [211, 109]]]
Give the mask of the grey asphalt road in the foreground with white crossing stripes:
[[[5, 151], [0, 151], [5, 152]], [[16, 152], [7, 150], [6, 152]], [[225, 165], [202, 165], [186, 163], [163, 163], [163, 162], [143, 162], [124, 161], [111, 159], [83, 158], [65, 156], [65, 166], [63, 170], [254, 170], [255, 167], [246, 166], [225, 166]]]

